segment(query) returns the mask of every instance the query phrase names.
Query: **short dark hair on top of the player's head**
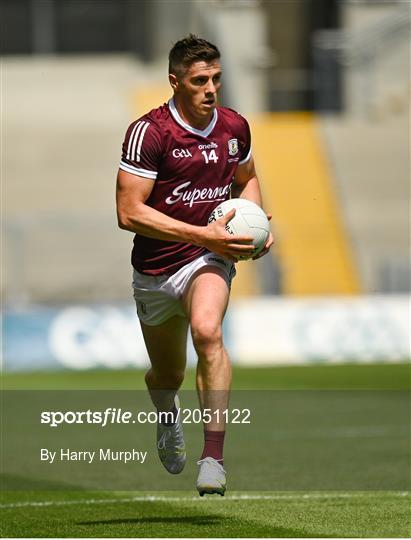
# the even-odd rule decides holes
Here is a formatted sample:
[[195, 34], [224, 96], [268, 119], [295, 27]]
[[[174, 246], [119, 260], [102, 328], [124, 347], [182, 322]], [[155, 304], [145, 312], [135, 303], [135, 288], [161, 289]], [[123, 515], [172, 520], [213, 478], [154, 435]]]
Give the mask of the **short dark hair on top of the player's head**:
[[168, 55], [168, 72], [181, 75], [182, 68], [188, 68], [194, 62], [212, 62], [220, 58], [220, 51], [209, 41], [194, 34], [175, 43]]

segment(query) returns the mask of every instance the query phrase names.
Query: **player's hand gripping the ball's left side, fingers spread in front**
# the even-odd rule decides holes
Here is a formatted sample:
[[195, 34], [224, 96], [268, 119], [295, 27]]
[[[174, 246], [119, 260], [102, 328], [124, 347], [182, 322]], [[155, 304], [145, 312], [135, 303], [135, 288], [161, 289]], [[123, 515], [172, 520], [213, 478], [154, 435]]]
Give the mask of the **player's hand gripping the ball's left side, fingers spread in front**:
[[227, 223], [235, 216], [233, 208], [225, 216], [209, 223], [204, 227], [202, 245], [209, 251], [217, 253], [232, 262], [237, 262], [238, 257], [252, 253], [255, 249], [251, 236], [235, 236], [227, 231]]

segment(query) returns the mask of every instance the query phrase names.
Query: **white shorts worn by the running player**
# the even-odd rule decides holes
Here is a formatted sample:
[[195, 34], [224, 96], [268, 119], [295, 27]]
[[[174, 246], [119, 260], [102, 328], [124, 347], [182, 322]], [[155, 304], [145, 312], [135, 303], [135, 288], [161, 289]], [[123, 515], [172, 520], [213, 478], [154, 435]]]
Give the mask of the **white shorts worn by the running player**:
[[147, 276], [133, 272], [137, 315], [144, 324], [157, 326], [174, 315], [185, 317], [181, 297], [192, 276], [204, 266], [222, 270], [228, 287], [236, 274], [234, 264], [214, 253], [206, 253], [186, 264], [172, 276]]

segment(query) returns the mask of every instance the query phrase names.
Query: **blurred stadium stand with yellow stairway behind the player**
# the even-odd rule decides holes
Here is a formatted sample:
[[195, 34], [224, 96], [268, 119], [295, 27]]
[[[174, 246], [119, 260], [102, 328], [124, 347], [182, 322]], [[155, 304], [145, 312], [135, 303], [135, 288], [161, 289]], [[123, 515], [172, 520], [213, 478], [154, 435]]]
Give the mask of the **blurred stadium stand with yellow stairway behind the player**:
[[121, 142], [169, 97], [166, 55], [189, 31], [221, 46], [274, 214], [273, 257], [241, 263], [234, 295], [408, 292], [406, 7], [0, 0], [4, 300], [129, 299]]

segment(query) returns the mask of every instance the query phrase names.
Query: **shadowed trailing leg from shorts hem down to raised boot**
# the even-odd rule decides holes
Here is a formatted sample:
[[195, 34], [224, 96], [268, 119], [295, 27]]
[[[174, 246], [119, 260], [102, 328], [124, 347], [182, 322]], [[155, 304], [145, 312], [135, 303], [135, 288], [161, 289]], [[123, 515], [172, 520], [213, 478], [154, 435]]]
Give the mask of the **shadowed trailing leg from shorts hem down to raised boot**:
[[178, 474], [184, 468], [186, 452], [176, 393], [184, 379], [188, 321], [174, 316], [157, 326], [141, 322], [141, 328], [151, 362], [147, 388], [157, 411], [168, 413], [157, 422], [158, 454], [167, 471]]

